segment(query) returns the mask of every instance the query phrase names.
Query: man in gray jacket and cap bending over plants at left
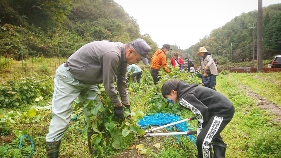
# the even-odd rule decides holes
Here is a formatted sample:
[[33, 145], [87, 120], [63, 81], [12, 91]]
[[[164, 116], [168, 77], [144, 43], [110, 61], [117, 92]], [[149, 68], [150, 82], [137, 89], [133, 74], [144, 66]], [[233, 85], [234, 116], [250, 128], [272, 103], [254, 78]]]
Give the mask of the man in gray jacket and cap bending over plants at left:
[[[122, 118], [123, 105], [130, 110], [127, 86], [128, 64], [143, 61], [148, 65], [147, 55], [151, 48], [143, 39], [136, 39], [127, 44], [112, 41], [94, 41], [85, 44], [74, 52], [66, 62], [56, 70], [54, 77], [54, 94], [52, 99], [52, 120], [46, 136], [47, 158], [59, 157], [61, 138], [68, 128], [72, 113], [73, 101], [78, 97], [97, 100], [99, 92], [97, 84], [103, 83], [104, 89], [114, 105], [114, 115]], [[114, 82], [122, 102], [120, 101]], [[95, 107], [93, 107], [95, 108]], [[83, 108], [86, 121], [88, 111]], [[91, 146], [94, 131], [88, 127], [88, 145], [90, 153], [95, 150]]]

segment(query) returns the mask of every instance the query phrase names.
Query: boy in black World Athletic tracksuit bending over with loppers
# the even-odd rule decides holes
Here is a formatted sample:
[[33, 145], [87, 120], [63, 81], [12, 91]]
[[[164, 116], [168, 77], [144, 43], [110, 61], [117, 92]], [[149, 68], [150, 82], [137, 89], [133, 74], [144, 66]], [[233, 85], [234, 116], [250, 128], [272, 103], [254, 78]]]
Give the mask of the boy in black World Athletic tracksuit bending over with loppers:
[[179, 101], [181, 107], [197, 115], [196, 146], [199, 158], [225, 157], [227, 145], [220, 133], [231, 121], [235, 111], [227, 97], [210, 88], [198, 86], [198, 83], [189, 84], [183, 80], [165, 82], [162, 95], [172, 104]]

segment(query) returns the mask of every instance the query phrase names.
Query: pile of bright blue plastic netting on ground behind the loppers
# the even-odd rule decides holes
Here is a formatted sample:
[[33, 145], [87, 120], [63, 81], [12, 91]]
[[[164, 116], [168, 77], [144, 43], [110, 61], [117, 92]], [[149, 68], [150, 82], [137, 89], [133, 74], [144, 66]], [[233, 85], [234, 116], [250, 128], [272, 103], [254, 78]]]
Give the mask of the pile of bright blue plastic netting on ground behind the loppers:
[[[144, 116], [143, 119], [139, 119], [138, 124], [140, 125], [140, 128], [147, 128], [150, 126], [163, 126], [169, 123], [174, 123], [177, 121], [183, 120], [181, 116], [174, 115], [174, 114], [166, 114], [166, 113], [154, 113], [148, 116]], [[191, 129], [194, 129], [195, 127], [191, 128], [189, 123], [182, 122], [170, 127], [166, 127], [168, 130], [174, 132], [171, 127], [177, 128], [181, 132], [190, 131]], [[180, 140], [178, 135], [175, 135], [178, 140]], [[194, 143], [196, 142], [196, 137], [193, 135], [185, 135], [189, 137], [190, 140], [192, 140]]]

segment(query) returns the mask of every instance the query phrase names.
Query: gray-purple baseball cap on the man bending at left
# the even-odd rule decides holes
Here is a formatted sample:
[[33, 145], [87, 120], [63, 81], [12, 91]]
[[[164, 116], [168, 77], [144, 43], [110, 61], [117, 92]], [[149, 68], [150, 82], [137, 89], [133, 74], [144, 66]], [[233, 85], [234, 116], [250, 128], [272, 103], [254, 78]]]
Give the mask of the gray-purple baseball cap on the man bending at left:
[[150, 46], [145, 42], [145, 40], [138, 38], [131, 42], [134, 49], [141, 55], [141, 60], [145, 65], [149, 65], [147, 55], [151, 51]]

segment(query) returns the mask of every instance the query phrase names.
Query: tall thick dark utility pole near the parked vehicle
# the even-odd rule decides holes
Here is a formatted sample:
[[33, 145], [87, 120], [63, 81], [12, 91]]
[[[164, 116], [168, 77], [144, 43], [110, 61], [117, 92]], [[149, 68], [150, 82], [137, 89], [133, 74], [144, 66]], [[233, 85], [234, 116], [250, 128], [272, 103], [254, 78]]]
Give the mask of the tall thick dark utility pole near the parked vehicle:
[[263, 6], [262, 0], [258, 0], [258, 68], [263, 71]]

